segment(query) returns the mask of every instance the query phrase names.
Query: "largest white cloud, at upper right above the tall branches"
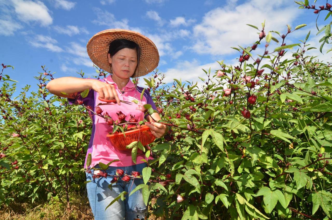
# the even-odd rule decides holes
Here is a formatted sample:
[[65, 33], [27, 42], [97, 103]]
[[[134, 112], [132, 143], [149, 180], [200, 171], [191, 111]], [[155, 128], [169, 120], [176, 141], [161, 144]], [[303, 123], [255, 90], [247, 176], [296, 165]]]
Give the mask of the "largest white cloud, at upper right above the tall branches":
[[259, 27], [265, 19], [266, 31], [285, 32], [285, 25], [291, 25], [301, 13], [296, 5], [285, 7], [287, 2], [250, 0], [232, 9], [213, 9], [205, 14], [201, 24], [194, 26], [192, 49], [199, 54], [233, 54], [235, 50], [230, 47], [249, 46], [258, 40], [259, 31], [246, 24]]

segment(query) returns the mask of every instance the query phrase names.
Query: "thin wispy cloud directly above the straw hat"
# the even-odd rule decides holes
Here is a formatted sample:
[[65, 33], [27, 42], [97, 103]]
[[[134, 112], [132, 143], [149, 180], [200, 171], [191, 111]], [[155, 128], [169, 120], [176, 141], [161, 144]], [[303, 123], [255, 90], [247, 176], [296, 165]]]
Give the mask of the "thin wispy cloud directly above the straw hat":
[[114, 14], [100, 8], [93, 8], [93, 11], [97, 15], [97, 19], [92, 21], [93, 24], [106, 25], [109, 28], [129, 29], [127, 19], [117, 21]]

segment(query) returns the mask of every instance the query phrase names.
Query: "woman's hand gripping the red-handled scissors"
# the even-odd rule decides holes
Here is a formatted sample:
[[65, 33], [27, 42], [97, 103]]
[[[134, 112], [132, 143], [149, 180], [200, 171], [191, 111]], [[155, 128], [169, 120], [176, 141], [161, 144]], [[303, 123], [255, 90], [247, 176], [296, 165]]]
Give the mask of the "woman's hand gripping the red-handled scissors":
[[107, 100], [115, 99], [120, 105], [120, 99], [114, 85], [99, 80], [91, 80], [90, 88], [98, 92], [100, 98]]

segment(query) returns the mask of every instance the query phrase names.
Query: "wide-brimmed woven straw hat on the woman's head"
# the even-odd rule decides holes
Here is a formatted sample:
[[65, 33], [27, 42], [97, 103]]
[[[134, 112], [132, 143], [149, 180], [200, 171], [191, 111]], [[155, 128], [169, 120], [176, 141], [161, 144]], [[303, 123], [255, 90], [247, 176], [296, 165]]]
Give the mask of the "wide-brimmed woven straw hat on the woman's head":
[[140, 33], [123, 30], [109, 29], [95, 34], [86, 45], [88, 55], [92, 62], [99, 68], [111, 72], [107, 54], [110, 43], [117, 39], [126, 39], [135, 42], [140, 48], [138, 69], [132, 77], [138, 77], [152, 72], [159, 62], [159, 53], [156, 45]]

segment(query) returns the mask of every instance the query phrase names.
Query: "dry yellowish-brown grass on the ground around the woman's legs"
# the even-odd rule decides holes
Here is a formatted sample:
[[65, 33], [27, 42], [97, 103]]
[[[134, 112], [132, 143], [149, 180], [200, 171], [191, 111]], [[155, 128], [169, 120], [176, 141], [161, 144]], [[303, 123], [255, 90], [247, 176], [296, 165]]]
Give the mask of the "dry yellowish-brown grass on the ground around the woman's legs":
[[[57, 200], [47, 203], [35, 202], [12, 203], [9, 207], [2, 205], [0, 208], [1, 220], [93, 220], [87, 196], [72, 195], [72, 209], [66, 210]], [[156, 217], [150, 213], [149, 220], [165, 220], [165, 217]]]

